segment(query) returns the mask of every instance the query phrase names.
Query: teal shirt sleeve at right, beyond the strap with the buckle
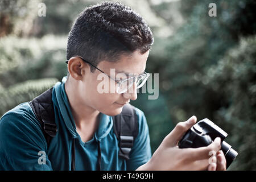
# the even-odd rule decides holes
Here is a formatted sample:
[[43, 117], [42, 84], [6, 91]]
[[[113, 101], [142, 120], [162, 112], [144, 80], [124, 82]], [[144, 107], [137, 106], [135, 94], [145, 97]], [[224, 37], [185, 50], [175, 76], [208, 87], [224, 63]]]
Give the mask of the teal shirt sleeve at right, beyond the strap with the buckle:
[[138, 136], [134, 140], [134, 146], [131, 148], [130, 159], [127, 160], [127, 170], [133, 171], [147, 163], [151, 158], [150, 135], [146, 117], [143, 111], [136, 108], [138, 116]]

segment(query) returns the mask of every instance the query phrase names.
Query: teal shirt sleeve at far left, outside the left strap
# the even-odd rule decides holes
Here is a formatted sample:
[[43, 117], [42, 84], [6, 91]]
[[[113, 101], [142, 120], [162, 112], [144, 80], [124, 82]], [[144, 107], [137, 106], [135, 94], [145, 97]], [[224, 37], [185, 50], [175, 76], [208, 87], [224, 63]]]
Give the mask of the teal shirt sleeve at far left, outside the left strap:
[[0, 170], [52, 170], [47, 144], [37, 121], [27, 113], [0, 120]]

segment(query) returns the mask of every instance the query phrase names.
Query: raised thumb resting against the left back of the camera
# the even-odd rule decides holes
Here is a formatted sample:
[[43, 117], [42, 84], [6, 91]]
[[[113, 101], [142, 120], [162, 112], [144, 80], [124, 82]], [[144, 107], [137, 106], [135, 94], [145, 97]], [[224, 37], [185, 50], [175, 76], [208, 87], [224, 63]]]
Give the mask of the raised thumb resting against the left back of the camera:
[[196, 119], [196, 116], [193, 115], [187, 121], [177, 123], [174, 130], [172, 130], [171, 133], [168, 134], [166, 138], [164, 138], [164, 140], [166, 140], [166, 144], [168, 144], [168, 146], [177, 145], [177, 142], [179, 142], [185, 132], [188, 131], [193, 125], [195, 125]]

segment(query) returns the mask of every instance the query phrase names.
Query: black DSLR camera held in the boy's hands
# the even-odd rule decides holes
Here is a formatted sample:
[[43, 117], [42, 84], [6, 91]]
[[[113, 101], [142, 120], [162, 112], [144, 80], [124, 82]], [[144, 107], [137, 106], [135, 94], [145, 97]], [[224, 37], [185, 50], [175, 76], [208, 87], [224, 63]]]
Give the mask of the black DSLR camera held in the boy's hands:
[[179, 148], [197, 148], [208, 146], [217, 137], [221, 138], [221, 150], [224, 152], [226, 158], [226, 168], [236, 159], [237, 151], [235, 151], [230, 144], [226, 143], [224, 139], [228, 134], [220, 127], [215, 125], [212, 121], [205, 118], [191, 127], [185, 133], [183, 138], [179, 141]]

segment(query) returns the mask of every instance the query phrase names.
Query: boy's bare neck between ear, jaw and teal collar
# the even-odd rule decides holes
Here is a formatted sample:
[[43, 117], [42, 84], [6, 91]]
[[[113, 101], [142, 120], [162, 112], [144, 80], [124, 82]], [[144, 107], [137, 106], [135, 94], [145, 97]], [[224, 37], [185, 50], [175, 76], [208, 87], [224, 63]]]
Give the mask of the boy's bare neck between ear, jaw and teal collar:
[[82, 100], [77, 97], [78, 83], [72, 83], [69, 79], [65, 82], [65, 92], [67, 93], [69, 104], [73, 118], [75, 119], [76, 127], [81, 129], [83, 126], [97, 125], [97, 117], [100, 112], [88, 105], [82, 103]]

